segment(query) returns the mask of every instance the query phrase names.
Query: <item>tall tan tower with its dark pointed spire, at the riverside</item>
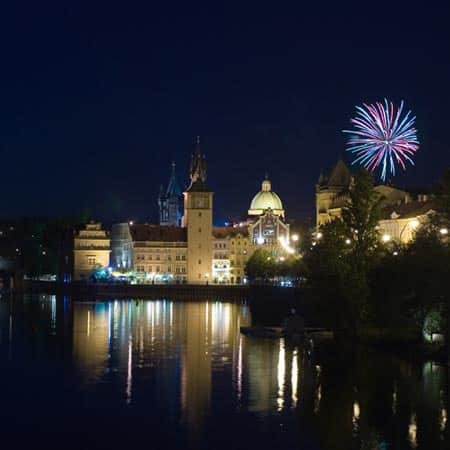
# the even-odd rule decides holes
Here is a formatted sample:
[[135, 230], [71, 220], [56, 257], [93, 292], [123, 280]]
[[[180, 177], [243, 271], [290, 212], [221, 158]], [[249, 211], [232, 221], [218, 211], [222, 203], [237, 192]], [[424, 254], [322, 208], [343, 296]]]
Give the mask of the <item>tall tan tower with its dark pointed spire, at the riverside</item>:
[[208, 191], [206, 161], [197, 137], [191, 159], [191, 184], [184, 193], [184, 226], [187, 227], [187, 281], [207, 284], [212, 273], [212, 201]]

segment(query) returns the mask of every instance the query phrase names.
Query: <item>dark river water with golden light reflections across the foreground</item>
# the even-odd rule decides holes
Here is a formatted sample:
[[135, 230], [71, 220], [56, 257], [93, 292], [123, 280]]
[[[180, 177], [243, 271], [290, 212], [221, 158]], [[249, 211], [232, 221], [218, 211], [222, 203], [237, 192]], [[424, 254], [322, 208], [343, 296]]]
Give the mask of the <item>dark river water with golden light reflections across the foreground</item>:
[[3, 448], [448, 449], [448, 371], [246, 338], [232, 303], [0, 299]]

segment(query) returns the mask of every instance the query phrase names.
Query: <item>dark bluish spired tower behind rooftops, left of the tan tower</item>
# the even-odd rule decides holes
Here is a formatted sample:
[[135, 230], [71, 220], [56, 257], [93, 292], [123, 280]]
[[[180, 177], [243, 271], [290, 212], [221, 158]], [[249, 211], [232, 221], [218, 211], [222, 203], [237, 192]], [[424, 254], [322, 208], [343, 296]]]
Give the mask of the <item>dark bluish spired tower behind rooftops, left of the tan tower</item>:
[[174, 162], [172, 162], [172, 172], [167, 189], [161, 186], [158, 196], [158, 208], [160, 225], [181, 226], [183, 218], [183, 194], [177, 181]]

